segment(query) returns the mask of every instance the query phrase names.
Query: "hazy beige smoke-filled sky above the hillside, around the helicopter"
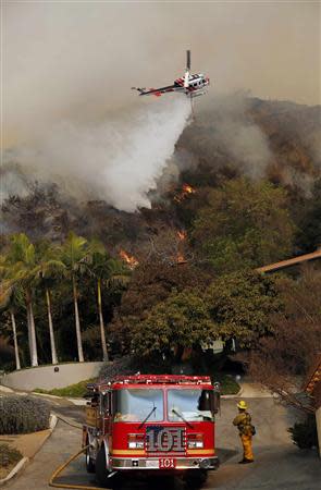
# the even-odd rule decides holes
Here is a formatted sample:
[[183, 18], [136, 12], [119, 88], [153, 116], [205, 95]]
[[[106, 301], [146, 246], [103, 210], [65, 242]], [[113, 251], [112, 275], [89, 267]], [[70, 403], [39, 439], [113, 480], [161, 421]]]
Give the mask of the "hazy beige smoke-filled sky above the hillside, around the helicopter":
[[320, 28], [309, 1], [2, 1], [4, 143], [143, 103], [131, 87], [172, 83], [187, 48], [212, 96], [320, 103]]

